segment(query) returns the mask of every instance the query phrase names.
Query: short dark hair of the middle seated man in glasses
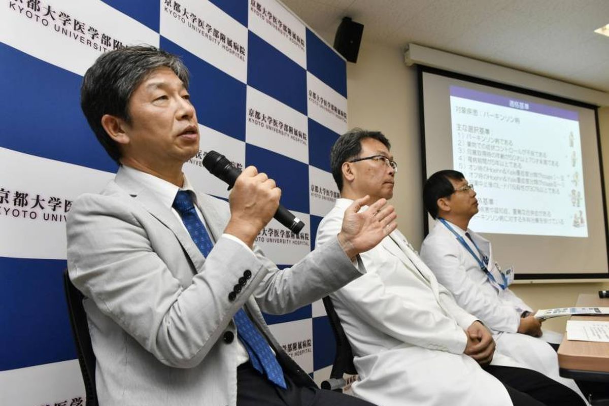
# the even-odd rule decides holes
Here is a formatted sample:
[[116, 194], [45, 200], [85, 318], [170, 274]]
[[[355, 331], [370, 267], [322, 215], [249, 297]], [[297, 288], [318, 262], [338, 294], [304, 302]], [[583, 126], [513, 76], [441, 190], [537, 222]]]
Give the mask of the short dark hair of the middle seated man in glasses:
[[391, 143], [389, 139], [381, 133], [381, 131], [368, 131], [362, 130], [361, 128], [353, 128], [339, 137], [334, 142], [332, 149], [330, 150], [330, 167], [332, 169], [332, 176], [336, 182], [336, 186], [339, 187], [339, 192], [342, 192], [343, 181], [342, 181], [342, 164], [347, 162], [351, 158], [355, 158], [362, 152], [362, 139], [373, 138], [382, 142], [387, 149], [391, 149]]

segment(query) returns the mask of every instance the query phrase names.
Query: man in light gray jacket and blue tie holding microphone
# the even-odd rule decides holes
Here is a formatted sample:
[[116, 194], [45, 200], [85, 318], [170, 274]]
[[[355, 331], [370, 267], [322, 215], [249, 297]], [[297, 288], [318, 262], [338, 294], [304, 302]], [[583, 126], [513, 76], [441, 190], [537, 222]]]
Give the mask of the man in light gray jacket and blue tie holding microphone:
[[[318, 390], [281, 349], [261, 310], [286, 313], [365, 272], [359, 253], [395, 229], [385, 201], [345, 213], [340, 233], [279, 271], [254, 240], [281, 191], [255, 167], [229, 204], [192, 189], [199, 151], [188, 71], [155, 47], [100, 56], [81, 105], [120, 164], [68, 219], [68, 268], [83, 292], [101, 405], [368, 405]], [[373, 215], [374, 214], [374, 215]]]

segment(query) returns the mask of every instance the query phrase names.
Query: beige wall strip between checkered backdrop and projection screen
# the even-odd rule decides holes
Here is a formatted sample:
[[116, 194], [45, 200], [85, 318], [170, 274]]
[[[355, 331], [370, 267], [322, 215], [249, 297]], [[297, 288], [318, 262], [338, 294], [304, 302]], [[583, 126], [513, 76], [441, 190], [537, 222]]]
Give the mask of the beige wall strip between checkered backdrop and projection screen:
[[357, 63], [347, 63], [349, 127], [379, 130], [398, 163], [392, 204], [398, 227], [415, 247], [423, 242], [421, 142], [417, 71], [400, 49], [362, 43]]

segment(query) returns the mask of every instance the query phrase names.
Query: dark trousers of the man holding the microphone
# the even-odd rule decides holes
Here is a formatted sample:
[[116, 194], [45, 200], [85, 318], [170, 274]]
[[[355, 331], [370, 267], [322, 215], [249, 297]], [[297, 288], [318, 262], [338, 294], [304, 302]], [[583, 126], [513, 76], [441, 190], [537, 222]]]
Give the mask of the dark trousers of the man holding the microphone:
[[246, 362], [237, 368], [237, 406], [374, 406], [354, 396], [311, 387], [298, 387], [289, 376], [282, 389]]

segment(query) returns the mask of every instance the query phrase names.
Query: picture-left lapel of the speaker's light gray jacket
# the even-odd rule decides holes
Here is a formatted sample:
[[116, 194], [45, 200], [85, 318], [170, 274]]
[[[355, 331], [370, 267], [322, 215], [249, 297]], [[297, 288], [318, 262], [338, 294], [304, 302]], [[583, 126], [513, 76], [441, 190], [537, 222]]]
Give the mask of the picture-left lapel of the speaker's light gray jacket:
[[174, 233], [174, 236], [178, 239], [180, 245], [190, 257], [192, 264], [194, 264], [197, 270], [200, 270], [203, 267], [203, 263], [205, 263], [205, 257], [199, 250], [199, 247], [192, 241], [188, 231], [179, 223], [179, 220], [175, 215], [161, 205], [158, 198], [156, 198], [152, 192], [135, 183], [130, 177], [121, 172], [121, 170], [116, 173], [114, 181], [132, 198], [135, 198], [135, 200], [143, 206], [147, 212], [153, 215], [155, 219], [163, 223], [164, 226]]

